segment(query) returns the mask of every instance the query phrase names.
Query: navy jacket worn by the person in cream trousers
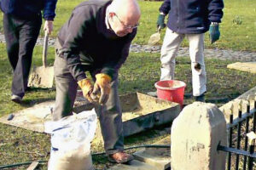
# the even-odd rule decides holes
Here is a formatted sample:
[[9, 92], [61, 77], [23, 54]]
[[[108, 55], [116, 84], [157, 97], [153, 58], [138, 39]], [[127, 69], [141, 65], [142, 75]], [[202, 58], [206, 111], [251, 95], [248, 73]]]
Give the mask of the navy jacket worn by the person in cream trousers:
[[160, 12], [169, 15], [172, 31], [198, 34], [208, 31], [211, 22], [221, 22], [223, 8], [223, 0], [165, 0]]

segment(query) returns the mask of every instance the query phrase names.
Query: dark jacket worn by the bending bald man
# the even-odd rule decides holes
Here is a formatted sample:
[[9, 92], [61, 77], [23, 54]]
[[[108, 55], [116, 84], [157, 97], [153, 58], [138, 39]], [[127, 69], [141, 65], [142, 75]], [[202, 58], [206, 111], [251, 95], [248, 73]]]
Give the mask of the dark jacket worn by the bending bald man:
[[125, 37], [118, 37], [107, 29], [105, 16], [110, 3], [106, 0], [80, 3], [59, 32], [61, 48], [57, 49], [58, 54], [67, 60], [67, 67], [77, 81], [86, 77], [86, 68], [116, 78], [119, 67], [129, 54], [137, 29]]

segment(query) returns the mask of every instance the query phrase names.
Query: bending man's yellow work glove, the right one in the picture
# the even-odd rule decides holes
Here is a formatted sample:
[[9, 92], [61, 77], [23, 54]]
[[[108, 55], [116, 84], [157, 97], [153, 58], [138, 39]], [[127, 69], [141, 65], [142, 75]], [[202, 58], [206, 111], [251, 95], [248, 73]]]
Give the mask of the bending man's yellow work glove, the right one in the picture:
[[94, 101], [98, 101], [101, 105], [106, 104], [110, 94], [110, 82], [111, 77], [109, 77], [107, 74], [96, 74], [96, 82], [94, 84], [91, 98]]

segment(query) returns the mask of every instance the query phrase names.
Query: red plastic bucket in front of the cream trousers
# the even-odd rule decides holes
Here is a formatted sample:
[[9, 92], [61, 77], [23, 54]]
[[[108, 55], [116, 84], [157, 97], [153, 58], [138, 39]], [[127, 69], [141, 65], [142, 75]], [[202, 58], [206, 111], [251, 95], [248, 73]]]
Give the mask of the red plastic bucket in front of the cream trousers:
[[184, 91], [186, 83], [177, 80], [165, 80], [155, 82], [154, 87], [157, 89], [159, 99], [167, 99], [183, 106]]

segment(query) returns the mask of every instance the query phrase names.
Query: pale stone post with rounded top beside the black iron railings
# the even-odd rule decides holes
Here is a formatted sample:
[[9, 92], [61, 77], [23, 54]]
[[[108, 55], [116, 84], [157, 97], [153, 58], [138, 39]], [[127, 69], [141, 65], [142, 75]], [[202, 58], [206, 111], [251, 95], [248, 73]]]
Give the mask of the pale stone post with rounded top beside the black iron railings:
[[224, 115], [213, 104], [195, 102], [187, 105], [172, 123], [172, 170], [224, 170], [226, 145]]

